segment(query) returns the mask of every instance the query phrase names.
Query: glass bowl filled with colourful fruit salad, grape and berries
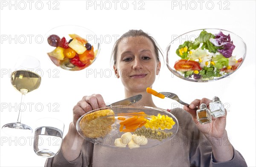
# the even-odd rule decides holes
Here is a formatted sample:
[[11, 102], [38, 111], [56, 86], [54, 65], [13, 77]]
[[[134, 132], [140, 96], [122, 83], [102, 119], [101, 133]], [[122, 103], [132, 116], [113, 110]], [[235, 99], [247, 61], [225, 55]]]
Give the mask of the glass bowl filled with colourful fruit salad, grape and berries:
[[93, 31], [76, 25], [52, 28], [45, 38], [49, 59], [68, 71], [87, 68], [96, 60], [101, 48]]

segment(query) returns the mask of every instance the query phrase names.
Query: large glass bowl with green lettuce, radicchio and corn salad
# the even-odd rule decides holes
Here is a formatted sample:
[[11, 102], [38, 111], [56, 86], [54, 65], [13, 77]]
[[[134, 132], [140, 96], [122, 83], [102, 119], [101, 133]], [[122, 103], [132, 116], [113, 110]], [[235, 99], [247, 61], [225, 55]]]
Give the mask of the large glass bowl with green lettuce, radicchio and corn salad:
[[238, 35], [222, 29], [199, 29], [172, 40], [166, 48], [166, 64], [181, 79], [209, 82], [233, 74], [246, 55]]

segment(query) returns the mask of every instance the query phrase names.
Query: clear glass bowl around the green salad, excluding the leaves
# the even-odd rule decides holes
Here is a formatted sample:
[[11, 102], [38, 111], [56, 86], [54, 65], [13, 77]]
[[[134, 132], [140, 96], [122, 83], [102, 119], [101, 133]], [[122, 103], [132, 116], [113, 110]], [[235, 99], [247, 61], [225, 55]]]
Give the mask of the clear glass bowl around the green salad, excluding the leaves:
[[[176, 50], [179, 47], [179, 45], [182, 45], [185, 41], [194, 42], [195, 39], [197, 37], [199, 37], [199, 34], [203, 30], [207, 31], [208, 33], [212, 33], [214, 35], [218, 34], [220, 31], [224, 35], [230, 34], [230, 39], [231, 39], [231, 41], [233, 41], [233, 45], [235, 45], [232, 56], [236, 56], [236, 60], [242, 59], [241, 63], [237, 66], [236, 70], [238, 70], [238, 68], [242, 65], [242, 62], [244, 62], [247, 48], [246, 48], [245, 42], [238, 35], [230, 32], [230, 31], [226, 31], [223, 29], [217, 29], [217, 28], [216, 29], [214, 29], [214, 28], [213, 29], [199, 29], [199, 30], [195, 30], [195, 31], [189, 31], [185, 34], [180, 35], [179, 37], [175, 38], [174, 40], [172, 40], [172, 42], [170, 42], [166, 48], [166, 64], [167, 64], [167, 67], [169, 68], [169, 70], [175, 76], [178, 76], [179, 78], [184, 79], [186, 81], [210, 82], [210, 81], [215, 81], [215, 80], [227, 77], [236, 71], [236, 70], [226, 70], [226, 72], [225, 71], [221, 72], [222, 73], [221, 76], [215, 77], [211, 74], [207, 74], [206, 78], [194, 79], [193, 77], [185, 77], [183, 72], [175, 70], [175, 68], [174, 68], [175, 62], [177, 62], [178, 60], [181, 59], [181, 57], [179, 57], [176, 54]], [[198, 60], [195, 60], [195, 61], [198, 61]]]

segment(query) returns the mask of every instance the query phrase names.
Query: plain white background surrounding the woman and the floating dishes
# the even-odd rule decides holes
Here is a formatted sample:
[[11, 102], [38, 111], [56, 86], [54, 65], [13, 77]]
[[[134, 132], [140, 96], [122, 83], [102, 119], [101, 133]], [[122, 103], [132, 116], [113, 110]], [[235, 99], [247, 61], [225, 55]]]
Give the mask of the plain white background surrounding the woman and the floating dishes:
[[[17, 110], [15, 104], [20, 103], [21, 95], [10, 83], [11, 71], [9, 69], [15, 65], [15, 59], [21, 55], [37, 57], [44, 71], [41, 86], [25, 97], [25, 103], [33, 103], [33, 105], [31, 110], [27, 108], [23, 112], [22, 122], [33, 127], [35, 120], [39, 118], [59, 118], [65, 123], [64, 135], [66, 135], [68, 125], [72, 121], [73, 106], [84, 95], [100, 93], [107, 103], [124, 97], [120, 79], [115, 78], [110, 63], [115, 42], [114, 36], [120, 36], [130, 29], [142, 29], [150, 33], [165, 51], [173, 36], [195, 29], [221, 28], [238, 34], [247, 44], [247, 55], [238, 71], [228, 78], [215, 82], [196, 83], [173, 76], [166, 64], [162, 62], [160, 76], [157, 77], [153, 88], [157, 91], [176, 93], [185, 102], [219, 96], [223, 103], [228, 104], [226, 106], [229, 111], [226, 129], [230, 142], [244, 156], [248, 166], [256, 166], [256, 2], [254, 0], [203, 0], [200, 2], [197, 0], [134, 2], [132, 0], [124, 3], [122, 1], [105, 3], [105, 1], [58, 0], [49, 2], [46, 0], [40, 2], [11, 1], [11, 3], [14, 6], [11, 6], [9, 0], [1, 0], [1, 127], [17, 120], [18, 113], [15, 112], [15, 109]], [[95, 6], [96, 3], [102, 5]], [[111, 8], [109, 8], [110, 4]], [[126, 4], [129, 6], [125, 10]], [[182, 6], [182, 4], [185, 5]], [[53, 7], [56, 10], [53, 10]], [[86, 27], [102, 36], [102, 50], [99, 57], [93, 65], [88, 67], [94, 71], [93, 74], [89, 74], [86, 70], [74, 72], [56, 67], [46, 55], [44, 47], [46, 41], [41, 43], [40, 38], [35, 38], [44, 36], [47, 31], [56, 26], [70, 24]], [[9, 40], [15, 36], [16, 41]], [[22, 43], [24, 38], [21, 37], [24, 36], [26, 42]], [[106, 36], [113, 38], [111, 41], [109, 38], [104, 40]], [[104, 71], [112, 71], [112, 74], [104, 75]], [[160, 108], [181, 107], [171, 99], [154, 97], [154, 102]], [[36, 106], [39, 103], [41, 104]], [[43, 106], [42, 111], [40, 111], [41, 106]], [[54, 112], [54, 109], [57, 111]], [[1, 167], [44, 166], [45, 159], [34, 153], [33, 139], [29, 141], [29, 137], [33, 137], [33, 134], [15, 138], [1, 131], [0, 136]]]

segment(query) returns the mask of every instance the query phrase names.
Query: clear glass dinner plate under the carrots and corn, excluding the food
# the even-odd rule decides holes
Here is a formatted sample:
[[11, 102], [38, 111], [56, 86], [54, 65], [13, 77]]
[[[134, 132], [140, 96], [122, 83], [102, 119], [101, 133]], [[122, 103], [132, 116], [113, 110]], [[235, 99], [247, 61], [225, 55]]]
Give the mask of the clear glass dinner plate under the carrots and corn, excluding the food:
[[[172, 129], [164, 129], [164, 130], [161, 130], [160, 128], [157, 129], [159, 131], [163, 131], [164, 133], [168, 133], [169, 136], [165, 139], [162, 139], [162, 141], [158, 140], [158, 139], [149, 139], [147, 138], [148, 140], [148, 143], [145, 144], [145, 145], [140, 145], [140, 147], [137, 147], [137, 148], [133, 148], [133, 149], [143, 149], [143, 148], [148, 148], [148, 147], [154, 147], [158, 144], [162, 144], [164, 142], [167, 142], [169, 140], [172, 139], [173, 136], [175, 136], [175, 134], [177, 133], [177, 130], [178, 130], [178, 121], [176, 119], [176, 117], [174, 115], [172, 115], [172, 113], [166, 111], [166, 110], [163, 110], [163, 109], [160, 109], [160, 108], [152, 108], [152, 107], [140, 107], [140, 108], [136, 108], [134, 106], [127, 106], [127, 105], [122, 105], [122, 106], [114, 106], [114, 107], [109, 107], [109, 108], [104, 108], [104, 109], [111, 109], [113, 110], [114, 112], [114, 115], [109, 115], [109, 116], [102, 116], [102, 117], [99, 117], [99, 118], [96, 118], [94, 119], [94, 121], [98, 121], [98, 122], [104, 122], [106, 120], [103, 121], [103, 119], [106, 119], [106, 118], [114, 118], [115, 121], [114, 123], [111, 125], [111, 130], [110, 132], [105, 135], [105, 136], [102, 136], [102, 137], [98, 137], [98, 138], [90, 138], [90, 137], [86, 137], [84, 135], [84, 133], [82, 132], [82, 129], [81, 129], [81, 126], [80, 126], [80, 122], [81, 122], [81, 119], [84, 117], [84, 116], [87, 116], [87, 114], [90, 114], [90, 113], [93, 113], [93, 112], [96, 112], [96, 111], [99, 111], [99, 110], [102, 110], [103, 108], [101, 109], [96, 109], [96, 110], [93, 110], [93, 111], [90, 111], [86, 114], [84, 114], [83, 116], [81, 116], [79, 118], [79, 120], [77, 121], [76, 123], [76, 129], [78, 131], [78, 133], [84, 138], [86, 139], [87, 141], [89, 142], [92, 142], [94, 144], [100, 144], [104, 147], [113, 147], [113, 148], [120, 148], [120, 147], [116, 147], [115, 146], [115, 140], [118, 139], [118, 138], [121, 138], [122, 134], [126, 133], [126, 132], [120, 132], [119, 131], [119, 128], [120, 128], [120, 122], [122, 120], [119, 120], [118, 117], [126, 117], [126, 118], [129, 118], [131, 116], [143, 116], [145, 119], [148, 119], [150, 120], [151, 119], [151, 116], [157, 116], [159, 113], [161, 115], [165, 115], [165, 116], [168, 116], [170, 118], [173, 119], [173, 121], [175, 122], [175, 125], [172, 126]], [[145, 116], [144, 114], [143, 115], [137, 115], [137, 114], [133, 114], [134, 112], [144, 112], [147, 116]], [[124, 127], [125, 128], [125, 127]], [[142, 127], [138, 127], [137, 130], [139, 130], [140, 128], [145, 128], [144, 126]], [[150, 129], [150, 128], [148, 128]], [[134, 134], [134, 132], [130, 132], [131, 134]], [[123, 139], [123, 138], [122, 138]], [[138, 138], [139, 139], [139, 138]], [[143, 139], [139, 139], [141, 142]], [[121, 147], [122, 149], [130, 149], [130, 147], [128, 147], [128, 145], [126, 145], [125, 147]]]

